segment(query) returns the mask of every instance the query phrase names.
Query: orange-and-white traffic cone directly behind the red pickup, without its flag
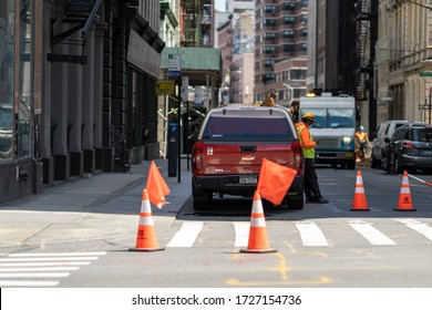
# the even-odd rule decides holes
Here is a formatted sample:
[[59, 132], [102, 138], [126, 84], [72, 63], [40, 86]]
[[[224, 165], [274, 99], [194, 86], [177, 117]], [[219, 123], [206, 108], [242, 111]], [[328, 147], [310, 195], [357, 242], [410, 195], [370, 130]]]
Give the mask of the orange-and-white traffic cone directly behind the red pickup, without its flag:
[[249, 242], [247, 249], [240, 252], [276, 252], [270, 249], [267, 237], [266, 219], [264, 217], [261, 196], [255, 192], [253, 210], [250, 215]]

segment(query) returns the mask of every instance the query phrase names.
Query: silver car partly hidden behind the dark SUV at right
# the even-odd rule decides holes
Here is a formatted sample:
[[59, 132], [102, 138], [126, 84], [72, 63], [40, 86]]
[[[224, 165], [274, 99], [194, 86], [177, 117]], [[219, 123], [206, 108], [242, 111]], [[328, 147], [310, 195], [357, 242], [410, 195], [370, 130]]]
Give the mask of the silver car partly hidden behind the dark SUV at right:
[[[381, 123], [377, 131], [373, 133], [373, 141], [370, 155], [370, 166], [372, 168], [382, 167], [382, 162], [384, 158], [384, 151], [387, 147], [385, 137], [391, 137], [395, 130], [400, 126], [409, 124], [409, 121], [403, 120], [392, 120]], [[415, 122], [416, 124], [424, 124], [422, 122]]]

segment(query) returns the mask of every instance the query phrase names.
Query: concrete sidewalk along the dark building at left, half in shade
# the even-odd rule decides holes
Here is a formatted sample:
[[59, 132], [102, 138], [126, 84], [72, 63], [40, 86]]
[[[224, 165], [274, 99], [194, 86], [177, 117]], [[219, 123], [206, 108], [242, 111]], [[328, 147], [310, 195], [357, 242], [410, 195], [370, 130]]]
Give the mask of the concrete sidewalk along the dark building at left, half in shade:
[[[155, 159], [171, 194], [155, 225], [167, 228], [191, 196], [191, 172], [182, 159], [181, 183], [167, 176], [167, 159]], [[109, 239], [135, 242], [142, 190], [151, 161], [127, 173], [99, 173], [45, 187], [39, 195], [0, 205], [0, 251], [4, 247]], [[123, 244], [123, 242], [121, 242]]]

